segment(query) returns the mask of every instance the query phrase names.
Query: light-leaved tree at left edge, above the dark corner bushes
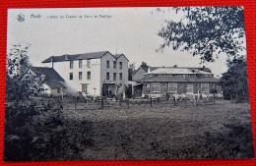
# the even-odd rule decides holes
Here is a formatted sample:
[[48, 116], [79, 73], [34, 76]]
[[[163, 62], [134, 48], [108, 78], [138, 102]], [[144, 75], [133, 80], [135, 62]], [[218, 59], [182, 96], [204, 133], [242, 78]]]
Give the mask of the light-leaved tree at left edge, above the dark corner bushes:
[[13, 45], [7, 55], [6, 67], [6, 98], [19, 102], [37, 94], [42, 87], [44, 78], [30, 73], [31, 63], [28, 57], [30, 44]]

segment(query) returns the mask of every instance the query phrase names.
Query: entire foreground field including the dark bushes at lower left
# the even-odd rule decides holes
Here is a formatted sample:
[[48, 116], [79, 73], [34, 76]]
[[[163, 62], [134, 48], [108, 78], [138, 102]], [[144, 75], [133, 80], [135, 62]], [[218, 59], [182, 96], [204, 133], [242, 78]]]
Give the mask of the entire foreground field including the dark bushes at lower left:
[[[9, 133], [18, 137], [15, 143], [26, 142], [20, 148], [31, 156], [12, 158], [15, 143], [11, 139], [5, 141], [5, 147], [9, 148], [5, 150], [5, 160], [254, 156], [248, 103], [218, 100], [214, 105], [204, 106], [174, 107], [160, 103], [153, 107], [130, 105], [129, 109], [114, 106], [98, 110], [64, 109], [58, 123], [52, 121], [56, 116], [47, 112], [33, 117], [29, 140], [23, 139], [25, 134], [21, 130], [20, 134]], [[23, 130], [26, 133], [29, 129]]]

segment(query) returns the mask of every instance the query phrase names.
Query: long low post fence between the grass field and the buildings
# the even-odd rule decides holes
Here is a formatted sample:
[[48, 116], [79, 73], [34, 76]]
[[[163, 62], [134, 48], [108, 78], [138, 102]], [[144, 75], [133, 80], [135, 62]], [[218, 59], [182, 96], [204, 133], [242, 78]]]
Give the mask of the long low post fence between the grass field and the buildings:
[[[36, 100], [35, 100], [36, 101]], [[38, 102], [40, 101], [40, 102]], [[39, 98], [35, 104], [38, 110], [97, 110], [97, 109], [124, 109], [142, 105], [145, 107], [159, 106], [160, 104], [170, 107], [183, 107], [183, 106], [199, 106], [206, 104], [215, 104], [215, 95], [205, 98], [175, 98], [175, 97], [149, 97], [149, 98], [127, 98], [125, 100], [118, 100], [115, 98], [76, 98], [66, 97], [61, 98]]]

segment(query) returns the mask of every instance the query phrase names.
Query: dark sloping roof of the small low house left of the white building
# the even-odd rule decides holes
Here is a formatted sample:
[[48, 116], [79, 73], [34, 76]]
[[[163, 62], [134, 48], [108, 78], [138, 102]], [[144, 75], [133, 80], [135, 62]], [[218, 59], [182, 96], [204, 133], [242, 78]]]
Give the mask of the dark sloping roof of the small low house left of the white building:
[[60, 81], [64, 82], [64, 79], [54, 69], [45, 67], [32, 67], [31, 69], [36, 76], [44, 75], [45, 84], [51, 88], [65, 87], [63, 83], [60, 83]]

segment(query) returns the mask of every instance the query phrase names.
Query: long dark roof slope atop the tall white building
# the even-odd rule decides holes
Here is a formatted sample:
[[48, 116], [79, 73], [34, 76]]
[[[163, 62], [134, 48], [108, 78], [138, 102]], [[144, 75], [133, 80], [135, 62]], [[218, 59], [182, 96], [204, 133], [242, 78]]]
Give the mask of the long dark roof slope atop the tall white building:
[[84, 53], [84, 54], [74, 54], [74, 55], [61, 55], [61, 56], [51, 56], [41, 63], [50, 63], [52, 62], [62, 62], [62, 61], [74, 61], [79, 59], [98, 59], [101, 58], [104, 54], [108, 51], [100, 51], [100, 52], [91, 52], [91, 53]]

